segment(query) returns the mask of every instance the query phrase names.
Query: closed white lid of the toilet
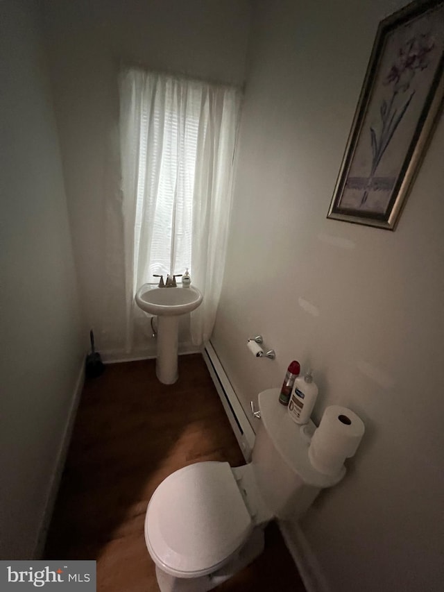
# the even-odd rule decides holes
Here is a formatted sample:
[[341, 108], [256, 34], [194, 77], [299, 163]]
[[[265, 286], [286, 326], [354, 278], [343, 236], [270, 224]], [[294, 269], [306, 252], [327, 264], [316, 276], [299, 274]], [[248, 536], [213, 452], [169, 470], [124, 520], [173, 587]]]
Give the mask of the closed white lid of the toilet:
[[167, 573], [210, 573], [246, 541], [253, 528], [228, 462], [198, 462], [169, 475], [153, 493], [145, 539]]

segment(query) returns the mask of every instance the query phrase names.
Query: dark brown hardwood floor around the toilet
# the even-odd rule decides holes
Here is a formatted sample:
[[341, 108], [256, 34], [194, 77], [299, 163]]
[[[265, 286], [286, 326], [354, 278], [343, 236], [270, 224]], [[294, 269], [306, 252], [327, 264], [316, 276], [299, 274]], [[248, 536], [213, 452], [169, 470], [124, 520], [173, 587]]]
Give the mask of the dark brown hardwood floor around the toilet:
[[[158, 590], [144, 518], [167, 475], [203, 460], [244, 464], [203, 358], [181, 356], [179, 376], [160, 384], [146, 360], [85, 383], [45, 557], [96, 559], [98, 591]], [[273, 524], [262, 556], [216, 590], [305, 591]]]

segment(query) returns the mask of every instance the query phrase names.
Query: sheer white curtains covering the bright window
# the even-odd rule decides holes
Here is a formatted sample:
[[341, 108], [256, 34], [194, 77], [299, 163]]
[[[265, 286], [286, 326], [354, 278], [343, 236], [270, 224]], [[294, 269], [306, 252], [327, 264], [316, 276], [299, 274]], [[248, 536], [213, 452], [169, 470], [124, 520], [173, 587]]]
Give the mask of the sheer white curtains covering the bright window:
[[221, 294], [241, 94], [234, 87], [126, 69], [120, 81], [126, 350], [137, 289], [184, 273], [202, 291], [191, 338], [210, 339]]

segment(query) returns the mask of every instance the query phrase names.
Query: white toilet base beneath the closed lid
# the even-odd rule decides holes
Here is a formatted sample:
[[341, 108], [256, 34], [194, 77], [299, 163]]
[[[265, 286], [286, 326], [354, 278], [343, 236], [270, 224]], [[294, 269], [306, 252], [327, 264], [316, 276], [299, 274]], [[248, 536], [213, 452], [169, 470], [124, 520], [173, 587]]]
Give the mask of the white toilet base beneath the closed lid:
[[160, 592], [207, 592], [228, 580], [252, 561], [264, 550], [264, 531], [255, 528], [244, 546], [228, 559], [227, 563], [214, 573], [200, 577], [175, 577], [155, 566], [155, 575]]

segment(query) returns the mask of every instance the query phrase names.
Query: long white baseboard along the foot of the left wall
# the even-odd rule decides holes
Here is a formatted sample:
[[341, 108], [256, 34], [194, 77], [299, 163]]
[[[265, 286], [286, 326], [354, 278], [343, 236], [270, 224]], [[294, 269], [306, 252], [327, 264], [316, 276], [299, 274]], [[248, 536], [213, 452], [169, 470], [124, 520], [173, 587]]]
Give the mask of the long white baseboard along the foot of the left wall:
[[76, 418], [78, 404], [80, 403], [80, 396], [83, 391], [84, 382], [85, 362], [83, 362], [82, 360], [82, 364], [76, 381], [76, 387], [74, 388], [74, 395], [71, 400], [71, 407], [69, 408], [67, 423], [65, 425], [65, 431], [63, 432], [62, 441], [60, 443], [60, 448], [58, 450], [56, 465], [54, 467], [54, 472], [51, 478], [51, 482], [49, 484], [48, 497], [46, 498], [46, 504], [44, 507], [42, 521], [40, 523], [40, 528], [37, 532], [37, 539], [35, 541], [34, 552], [32, 556], [33, 559], [41, 559], [44, 552], [46, 535], [48, 534], [49, 523], [51, 522], [53, 509], [58, 494], [58, 489], [60, 487], [60, 480], [62, 479], [63, 468], [65, 467], [69, 442], [71, 441], [71, 434], [74, 428], [74, 420]]

